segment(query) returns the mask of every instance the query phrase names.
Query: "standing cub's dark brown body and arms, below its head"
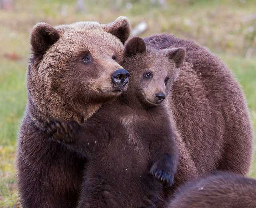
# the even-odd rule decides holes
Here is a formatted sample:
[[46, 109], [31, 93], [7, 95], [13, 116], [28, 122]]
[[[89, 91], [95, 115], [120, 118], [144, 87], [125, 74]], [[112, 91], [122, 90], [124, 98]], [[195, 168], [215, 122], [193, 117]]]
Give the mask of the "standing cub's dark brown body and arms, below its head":
[[176, 146], [168, 114], [163, 106], [143, 109], [138, 102], [136, 107], [130, 99], [128, 102], [125, 96], [104, 104], [81, 128], [72, 128], [77, 133], [69, 133], [71, 140], [59, 137], [88, 158], [80, 208], [153, 208], [165, 203], [167, 184], [157, 179], [165, 173], [154, 178], [150, 168], [159, 160], [162, 168], [158, 170], [168, 171], [173, 180]]

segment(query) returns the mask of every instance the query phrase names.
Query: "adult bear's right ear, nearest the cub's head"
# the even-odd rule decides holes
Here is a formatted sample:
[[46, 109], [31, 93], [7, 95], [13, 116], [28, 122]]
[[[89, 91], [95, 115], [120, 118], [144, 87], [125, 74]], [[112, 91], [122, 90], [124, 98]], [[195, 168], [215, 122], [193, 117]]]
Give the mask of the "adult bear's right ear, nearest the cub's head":
[[118, 17], [114, 22], [109, 24], [102, 24], [102, 28], [116, 36], [121, 40], [122, 44], [126, 42], [131, 33], [131, 24], [130, 21], [123, 16]]

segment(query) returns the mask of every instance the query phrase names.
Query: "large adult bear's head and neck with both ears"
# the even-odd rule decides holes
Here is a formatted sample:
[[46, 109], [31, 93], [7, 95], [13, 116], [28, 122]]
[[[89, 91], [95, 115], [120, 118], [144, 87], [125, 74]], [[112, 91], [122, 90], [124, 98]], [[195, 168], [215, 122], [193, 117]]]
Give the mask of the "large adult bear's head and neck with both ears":
[[120, 62], [129, 34], [125, 17], [110, 24], [36, 24], [27, 70], [30, 112], [44, 121], [83, 122], [120, 95], [128, 86], [129, 73]]

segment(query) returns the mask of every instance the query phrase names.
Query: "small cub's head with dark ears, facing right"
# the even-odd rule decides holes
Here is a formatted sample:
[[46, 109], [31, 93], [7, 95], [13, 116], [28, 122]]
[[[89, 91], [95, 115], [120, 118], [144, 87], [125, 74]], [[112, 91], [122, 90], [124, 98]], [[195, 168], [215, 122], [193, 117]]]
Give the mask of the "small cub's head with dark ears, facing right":
[[184, 48], [156, 49], [142, 38], [128, 40], [122, 66], [131, 75], [129, 92], [146, 106], [158, 106], [170, 92], [178, 68], [186, 57]]

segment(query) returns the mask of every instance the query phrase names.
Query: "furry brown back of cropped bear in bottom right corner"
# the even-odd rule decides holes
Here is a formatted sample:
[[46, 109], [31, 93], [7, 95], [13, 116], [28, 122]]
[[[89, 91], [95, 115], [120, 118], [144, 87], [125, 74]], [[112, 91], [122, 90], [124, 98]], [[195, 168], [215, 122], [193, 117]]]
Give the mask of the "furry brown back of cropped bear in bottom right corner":
[[256, 180], [228, 172], [188, 182], [175, 193], [168, 208], [254, 208]]

